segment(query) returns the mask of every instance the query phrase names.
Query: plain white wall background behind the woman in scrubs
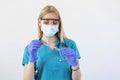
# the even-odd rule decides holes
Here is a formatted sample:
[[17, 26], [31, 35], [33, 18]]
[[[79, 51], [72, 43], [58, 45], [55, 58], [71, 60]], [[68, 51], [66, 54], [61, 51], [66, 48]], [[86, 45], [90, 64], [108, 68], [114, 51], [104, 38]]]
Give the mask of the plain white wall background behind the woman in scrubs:
[[48, 4], [77, 43], [82, 80], [120, 80], [120, 0], [0, 0], [0, 80], [22, 80], [24, 47]]

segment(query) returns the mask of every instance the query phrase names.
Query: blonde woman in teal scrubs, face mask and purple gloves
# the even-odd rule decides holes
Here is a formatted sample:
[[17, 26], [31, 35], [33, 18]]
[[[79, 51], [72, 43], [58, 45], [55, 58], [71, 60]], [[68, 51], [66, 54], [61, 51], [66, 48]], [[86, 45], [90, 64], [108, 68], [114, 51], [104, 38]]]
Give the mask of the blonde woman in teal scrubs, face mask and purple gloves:
[[66, 38], [58, 10], [42, 9], [38, 18], [39, 39], [24, 51], [24, 80], [81, 80], [80, 54], [75, 42]]

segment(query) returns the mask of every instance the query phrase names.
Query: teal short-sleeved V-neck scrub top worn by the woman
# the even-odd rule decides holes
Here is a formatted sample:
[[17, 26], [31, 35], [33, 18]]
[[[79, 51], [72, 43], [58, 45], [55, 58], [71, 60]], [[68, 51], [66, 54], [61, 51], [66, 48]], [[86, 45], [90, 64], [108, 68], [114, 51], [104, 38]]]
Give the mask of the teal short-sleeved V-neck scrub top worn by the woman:
[[[40, 40], [44, 42], [43, 40]], [[76, 57], [80, 59], [80, 53], [77, 49], [75, 42], [71, 39], [65, 38], [64, 44], [60, 44], [60, 40], [57, 39], [55, 42], [55, 47], [63, 48], [68, 47], [72, 48], [76, 52]], [[47, 45], [41, 45], [37, 51], [37, 61], [36, 69], [38, 73], [35, 75], [35, 80], [72, 80], [72, 71], [70, 64], [65, 59], [64, 56], [61, 57], [59, 51], [56, 48], [51, 49]], [[60, 59], [62, 59], [60, 61]], [[28, 64], [29, 52], [26, 46], [22, 64]]]

